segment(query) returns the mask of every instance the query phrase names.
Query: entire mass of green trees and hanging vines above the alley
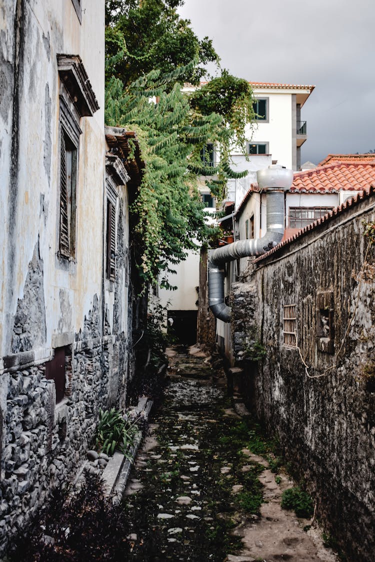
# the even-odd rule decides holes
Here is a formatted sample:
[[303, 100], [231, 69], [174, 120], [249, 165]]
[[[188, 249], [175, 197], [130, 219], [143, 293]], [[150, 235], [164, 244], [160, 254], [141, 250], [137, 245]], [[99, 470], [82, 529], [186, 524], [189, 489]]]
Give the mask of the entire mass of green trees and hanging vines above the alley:
[[[183, 94], [184, 81], [197, 83], [204, 64], [218, 56], [211, 41], [201, 42], [189, 21], [177, 15], [175, 8], [182, 3], [106, 2], [105, 120], [137, 133], [146, 164], [131, 209], [138, 268], [146, 284], [161, 279], [164, 286], [166, 273], [195, 247], [194, 239], [202, 243], [212, 233], [197, 175], [207, 176], [219, 199], [228, 177], [244, 175], [231, 170], [229, 146], [235, 138], [242, 142], [253, 115], [249, 84], [227, 71], [211, 86]], [[216, 168], [201, 162], [208, 142], [220, 147]]]

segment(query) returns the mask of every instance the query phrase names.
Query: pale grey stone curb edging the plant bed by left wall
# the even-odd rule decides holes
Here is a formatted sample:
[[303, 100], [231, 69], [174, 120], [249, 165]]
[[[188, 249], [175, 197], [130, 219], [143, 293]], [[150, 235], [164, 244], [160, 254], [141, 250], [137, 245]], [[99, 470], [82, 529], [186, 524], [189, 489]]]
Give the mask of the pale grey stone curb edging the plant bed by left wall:
[[[140, 414], [144, 410], [146, 419], [150, 415], [153, 401], [150, 398], [143, 397], [139, 400], [135, 412]], [[126, 482], [128, 481], [132, 464], [137, 454], [139, 445], [141, 445], [142, 433], [139, 432], [135, 438], [134, 446], [129, 451], [129, 457], [116, 451], [110, 458], [106, 468], [103, 470], [102, 479], [104, 483], [104, 491], [106, 496], [113, 496], [113, 503], [119, 504], [125, 490]]]

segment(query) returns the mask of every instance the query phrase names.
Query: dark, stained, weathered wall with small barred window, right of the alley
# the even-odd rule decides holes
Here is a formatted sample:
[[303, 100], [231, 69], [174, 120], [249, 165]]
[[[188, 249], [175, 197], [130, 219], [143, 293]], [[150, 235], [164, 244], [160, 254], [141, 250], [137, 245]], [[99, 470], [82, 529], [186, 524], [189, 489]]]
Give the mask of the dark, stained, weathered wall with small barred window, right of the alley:
[[[363, 562], [375, 549], [374, 248], [361, 273], [363, 221], [375, 220], [374, 199], [260, 261], [249, 283], [233, 286], [237, 362], [251, 340], [266, 348], [246, 375], [257, 414], [306, 478], [349, 560]], [[295, 347], [283, 342], [284, 305], [296, 305]], [[329, 314], [331, 332], [321, 324]], [[321, 351], [328, 345], [322, 329], [331, 333], [332, 352]]]

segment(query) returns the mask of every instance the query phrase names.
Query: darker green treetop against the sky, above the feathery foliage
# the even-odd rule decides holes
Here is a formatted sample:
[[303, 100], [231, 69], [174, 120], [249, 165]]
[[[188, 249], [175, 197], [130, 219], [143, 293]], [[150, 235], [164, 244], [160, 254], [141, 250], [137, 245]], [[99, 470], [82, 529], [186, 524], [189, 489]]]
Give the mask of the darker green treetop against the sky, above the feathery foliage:
[[211, 39], [198, 39], [189, 20], [179, 17], [176, 8], [183, 0], [107, 0], [106, 55], [123, 52], [107, 72], [132, 83], [142, 74], [158, 69], [168, 74], [192, 60], [181, 81], [199, 83], [208, 62], [219, 62]]

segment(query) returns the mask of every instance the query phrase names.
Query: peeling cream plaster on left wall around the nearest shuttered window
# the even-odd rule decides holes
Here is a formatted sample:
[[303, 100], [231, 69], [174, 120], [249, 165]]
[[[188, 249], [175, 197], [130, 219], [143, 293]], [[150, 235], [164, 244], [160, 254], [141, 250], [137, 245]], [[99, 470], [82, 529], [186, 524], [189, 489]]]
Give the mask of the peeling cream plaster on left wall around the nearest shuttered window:
[[[44, 347], [51, 346], [52, 334], [61, 317], [60, 288], [69, 293], [70, 305], [76, 311], [72, 327], [78, 330], [101, 283], [102, 232], [97, 229], [92, 235], [92, 224], [94, 217], [103, 212], [103, 4], [96, 0], [84, 7], [80, 24], [72, 2], [54, 3], [48, 10], [44, 2], [37, 0], [2, 3], [0, 159], [4, 187], [1, 204], [6, 228], [1, 234], [1, 267], [6, 290], [1, 296], [1, 355], [12, 349], [17, 303], [24, 298], [29, 262], [38, 239], [44, 266], [44, 301], [49, 313]], [[101, 106], [93, 117], [83, 117], [80, 123], [83, 133], [79, 147], [79, 235], [74, 276], [56, 267], [59, 162], [56, 55], [64, 52], [80, 55]], [[93, 158], [93, 154], [101, 156]], [[87, 165], [90, 161], [91, 165]], [[90, 274], [87, 274], [88, 261], [95, 266]]]

